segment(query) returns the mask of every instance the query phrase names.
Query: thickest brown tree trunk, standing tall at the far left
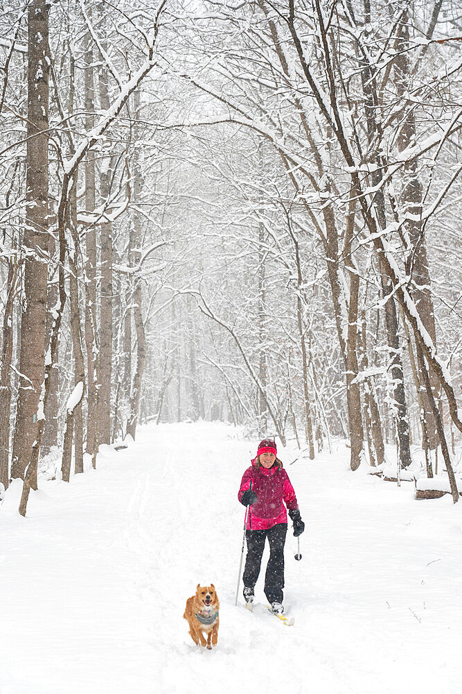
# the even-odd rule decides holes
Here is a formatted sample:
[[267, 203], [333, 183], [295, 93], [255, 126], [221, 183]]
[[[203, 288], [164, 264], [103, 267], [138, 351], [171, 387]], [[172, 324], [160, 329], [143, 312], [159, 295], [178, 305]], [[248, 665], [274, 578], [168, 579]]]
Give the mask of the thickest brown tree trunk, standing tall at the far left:
[[[44, 380], [48, 251], [48, 12], [45, 0], [28, 6], [28, 117], [24, 305], [12, 477], [23, 477], [37, 439], [37, 406]], [[30, 479], [33, 489], [36, 478]]]

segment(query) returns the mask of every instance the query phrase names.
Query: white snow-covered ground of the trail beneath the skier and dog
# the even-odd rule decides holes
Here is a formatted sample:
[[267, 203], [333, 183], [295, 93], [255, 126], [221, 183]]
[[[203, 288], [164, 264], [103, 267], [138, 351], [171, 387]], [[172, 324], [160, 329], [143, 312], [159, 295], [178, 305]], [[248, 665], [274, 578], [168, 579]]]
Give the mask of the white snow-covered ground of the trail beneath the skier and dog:
[[[345, 448], [293, 465], [279, 450], [307, 525], [300, 562], [287, 536], [285, 627], [241, 597], [234, 607], [236, 493], [256, 443], [221, 424], [152, 425], [96, 472], [42, 482], [25, 519], [13, 484], [0, 507], [0, 693], [461, 692], [462, 501], [351, 473]], [[221, 602], [211, 652], [182, 618], [199, 582]]]

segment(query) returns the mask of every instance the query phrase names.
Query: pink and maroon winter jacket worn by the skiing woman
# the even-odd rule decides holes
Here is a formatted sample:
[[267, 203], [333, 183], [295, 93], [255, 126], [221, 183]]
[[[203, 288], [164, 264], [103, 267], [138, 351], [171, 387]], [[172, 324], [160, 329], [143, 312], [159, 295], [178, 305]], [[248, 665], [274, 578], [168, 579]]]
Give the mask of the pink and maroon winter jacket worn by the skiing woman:
[[255, 460], [252, 460], [251, 466], [242, 475], [238, 491], [239, 500], [250, 488], [250, 482], [252, 482], [252, 491], [256, 493], [257, 500], [249, 506], [247, 522], [249, 530], [268, 530], [277, 523], [287, 523], [285, 506], [290, 511], [299, 508], [289, 475], [276, 464], [267, 470], [263, 466], [256, 468]]

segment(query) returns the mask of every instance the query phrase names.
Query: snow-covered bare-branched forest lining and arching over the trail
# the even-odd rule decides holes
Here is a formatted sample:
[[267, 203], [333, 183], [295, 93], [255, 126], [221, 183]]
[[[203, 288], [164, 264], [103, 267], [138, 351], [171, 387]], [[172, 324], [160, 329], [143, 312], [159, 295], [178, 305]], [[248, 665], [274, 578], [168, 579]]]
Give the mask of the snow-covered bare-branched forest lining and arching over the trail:
[[21, 515], [41, 469], [199, 420], [459, 499], [461, 41], [455, 0], [1, 2]]

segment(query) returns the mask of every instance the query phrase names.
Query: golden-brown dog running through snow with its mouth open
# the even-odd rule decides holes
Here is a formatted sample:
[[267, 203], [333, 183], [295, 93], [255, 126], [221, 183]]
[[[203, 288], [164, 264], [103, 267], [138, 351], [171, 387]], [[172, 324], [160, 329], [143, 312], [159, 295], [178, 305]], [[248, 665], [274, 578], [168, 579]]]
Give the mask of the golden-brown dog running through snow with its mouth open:
[[[189, 623], [189, 633], [196, 645], [205, 646], [211, 650], [217, 645], [218, 627], [218, 602], [215, 586], [200, 586], [197, 584], [196, 594], [186, 600], [184, 618]], [[207, 641], [205, 640], [207, 636]]]

